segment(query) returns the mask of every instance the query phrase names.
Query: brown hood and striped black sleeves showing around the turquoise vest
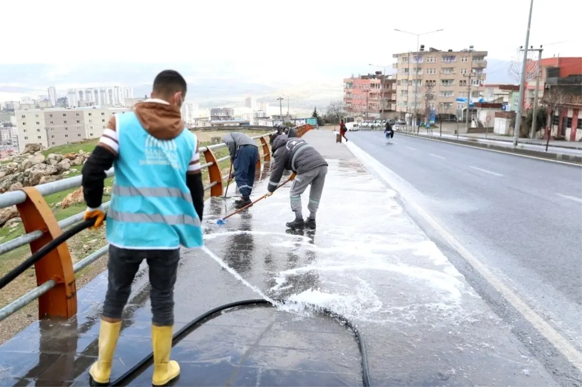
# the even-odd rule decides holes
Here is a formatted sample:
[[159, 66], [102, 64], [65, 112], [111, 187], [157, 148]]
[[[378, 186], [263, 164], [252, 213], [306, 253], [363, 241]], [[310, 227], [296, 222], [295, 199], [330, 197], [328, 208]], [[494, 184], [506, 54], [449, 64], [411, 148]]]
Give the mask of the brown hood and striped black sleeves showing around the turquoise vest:
[[[126, 113], [128, 114], [128, 113]], [[184, 128], [182, 114], [176, 106], [170, 105], [161, 99], [148, 99], [138, 103], [134, 107], [134, 112], [140, 121], [141, 127], [152, 137], [161, 140], [170, 140], [178, 137]], [[83, 166], [83, 195], [87, 206], [95, 209], [101, 206], [105, 171], [111, 169], [115, 157], [120, 152], [117, 136], [115, 116], [112, 116], [107, 123], [99, 144], [95, 146], [93, 153]], [[204, 185], [200, 169], [200, 144], [196, 144], [194, 154], [190, 160], [187, 173], [184, 176], [186, 185], [190, 189], [194, 208], [200, 220], [204, 212]]]

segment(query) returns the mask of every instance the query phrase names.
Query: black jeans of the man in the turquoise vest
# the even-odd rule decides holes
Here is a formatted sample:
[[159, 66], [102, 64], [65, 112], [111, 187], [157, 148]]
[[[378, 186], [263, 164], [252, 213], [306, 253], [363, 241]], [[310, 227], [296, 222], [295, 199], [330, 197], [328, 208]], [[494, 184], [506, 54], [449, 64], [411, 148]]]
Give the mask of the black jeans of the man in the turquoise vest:
[[109, 283], [103, 316], [120, 319], [123, 307], [132, 292], [132, 282], [141, 261], [150, 267], [150, 300], [152, 324], [167, 327], [174, 324], [174, 285], [180, 249], [133, 250], [109, 245]]

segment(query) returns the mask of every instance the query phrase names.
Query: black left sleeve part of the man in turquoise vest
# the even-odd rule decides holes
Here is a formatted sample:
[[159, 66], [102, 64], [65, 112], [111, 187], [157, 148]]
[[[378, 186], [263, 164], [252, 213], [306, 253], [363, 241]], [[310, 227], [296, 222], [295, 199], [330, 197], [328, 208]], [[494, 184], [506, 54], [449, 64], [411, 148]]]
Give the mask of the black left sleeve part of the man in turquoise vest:
[[95, 146], [93, 153], [83, 166], [81, 174], [83, 178], [83, 196], [87, 207], [97, 208], [103, 200], [103, 187], [105, 185], [105, 171], [111, 169], [115, 161], [115, 155], [102, 146]]

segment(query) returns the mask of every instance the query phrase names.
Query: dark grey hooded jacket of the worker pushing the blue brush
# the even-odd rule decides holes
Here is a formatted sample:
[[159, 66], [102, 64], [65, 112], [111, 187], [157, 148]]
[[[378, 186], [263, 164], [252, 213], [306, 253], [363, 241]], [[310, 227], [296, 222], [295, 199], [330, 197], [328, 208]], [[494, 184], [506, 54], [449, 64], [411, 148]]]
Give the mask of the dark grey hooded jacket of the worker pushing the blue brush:
[[303, 138], [289, 138], [286, 134], [278, 135], [273, 139], [271, 149], [275, 165], [269, 178], [269, 192], [275, 191], [284, 170], [291, 170], [300, 175], [314, 168], [328, 165], [320, 152], [307, 144]]

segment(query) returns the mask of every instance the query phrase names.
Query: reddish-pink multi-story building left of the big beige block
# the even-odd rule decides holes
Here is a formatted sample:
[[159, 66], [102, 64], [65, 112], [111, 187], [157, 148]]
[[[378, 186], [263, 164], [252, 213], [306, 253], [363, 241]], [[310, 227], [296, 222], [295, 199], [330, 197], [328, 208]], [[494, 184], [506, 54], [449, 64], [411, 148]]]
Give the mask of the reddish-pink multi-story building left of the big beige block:
[[364, 119], [391, 118], [396, 110], [396, 89], [392, 76], [368, 74], [343, 80], [346, 112]]

